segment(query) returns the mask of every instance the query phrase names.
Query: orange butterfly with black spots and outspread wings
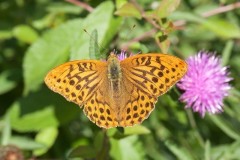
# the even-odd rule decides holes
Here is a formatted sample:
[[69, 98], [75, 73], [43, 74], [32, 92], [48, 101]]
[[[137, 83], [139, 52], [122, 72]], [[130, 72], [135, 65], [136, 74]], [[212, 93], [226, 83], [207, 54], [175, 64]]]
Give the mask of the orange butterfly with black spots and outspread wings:
[[83, 107], [103, 128], [140, 124], [160, 95], [187, 71], [184, 60], [169, 54], [138, 54], [123, 60], [113, 52], [107, 61], [76, 60], [51, 70], [46, 85]]

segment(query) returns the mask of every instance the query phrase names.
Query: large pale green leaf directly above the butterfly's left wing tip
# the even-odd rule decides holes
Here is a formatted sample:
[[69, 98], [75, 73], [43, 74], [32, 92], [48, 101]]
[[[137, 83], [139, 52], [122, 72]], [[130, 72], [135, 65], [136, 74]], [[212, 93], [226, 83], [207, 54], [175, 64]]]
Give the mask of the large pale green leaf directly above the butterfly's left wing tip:
[[71, 20], [46, 32], [30, 46], [23, 62], [25, 93], [36, 90], [50, 69], [68, 59], [81, 25], [82, 20]]

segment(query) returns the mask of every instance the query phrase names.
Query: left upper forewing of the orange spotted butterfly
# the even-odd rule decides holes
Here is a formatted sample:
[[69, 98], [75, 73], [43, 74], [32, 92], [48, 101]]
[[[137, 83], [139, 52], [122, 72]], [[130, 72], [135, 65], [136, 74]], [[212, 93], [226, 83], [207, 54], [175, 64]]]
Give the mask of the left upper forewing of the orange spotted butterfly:
[[79, 106], [101, 87], [106, 76], [106, 63], [94, 60], [81, 60], [64, 63], [45, 77], [47, 86], [67, 100]]

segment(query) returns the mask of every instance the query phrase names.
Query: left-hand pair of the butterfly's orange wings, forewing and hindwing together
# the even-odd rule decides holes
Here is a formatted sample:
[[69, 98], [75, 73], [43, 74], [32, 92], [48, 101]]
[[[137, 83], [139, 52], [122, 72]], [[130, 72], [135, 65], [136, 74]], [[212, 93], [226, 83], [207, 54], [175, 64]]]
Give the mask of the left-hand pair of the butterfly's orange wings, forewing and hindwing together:
[[45, 83], [68, 101], [84, 106], [84, 113], [98, 126], [116, 126], [107, 99], [106, 65], [106, 62], [96, 60], [67, 62], [51, 70]]

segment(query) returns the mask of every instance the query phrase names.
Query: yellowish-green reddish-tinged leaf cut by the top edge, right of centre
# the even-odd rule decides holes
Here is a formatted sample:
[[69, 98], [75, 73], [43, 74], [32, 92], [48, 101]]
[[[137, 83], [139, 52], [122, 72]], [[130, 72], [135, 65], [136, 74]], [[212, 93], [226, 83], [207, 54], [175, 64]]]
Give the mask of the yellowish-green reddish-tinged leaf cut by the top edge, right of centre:
[[162, 0], [156, 9], [156, 15], [159, 19], [168, 17], [179, 6], [180, 0]]

